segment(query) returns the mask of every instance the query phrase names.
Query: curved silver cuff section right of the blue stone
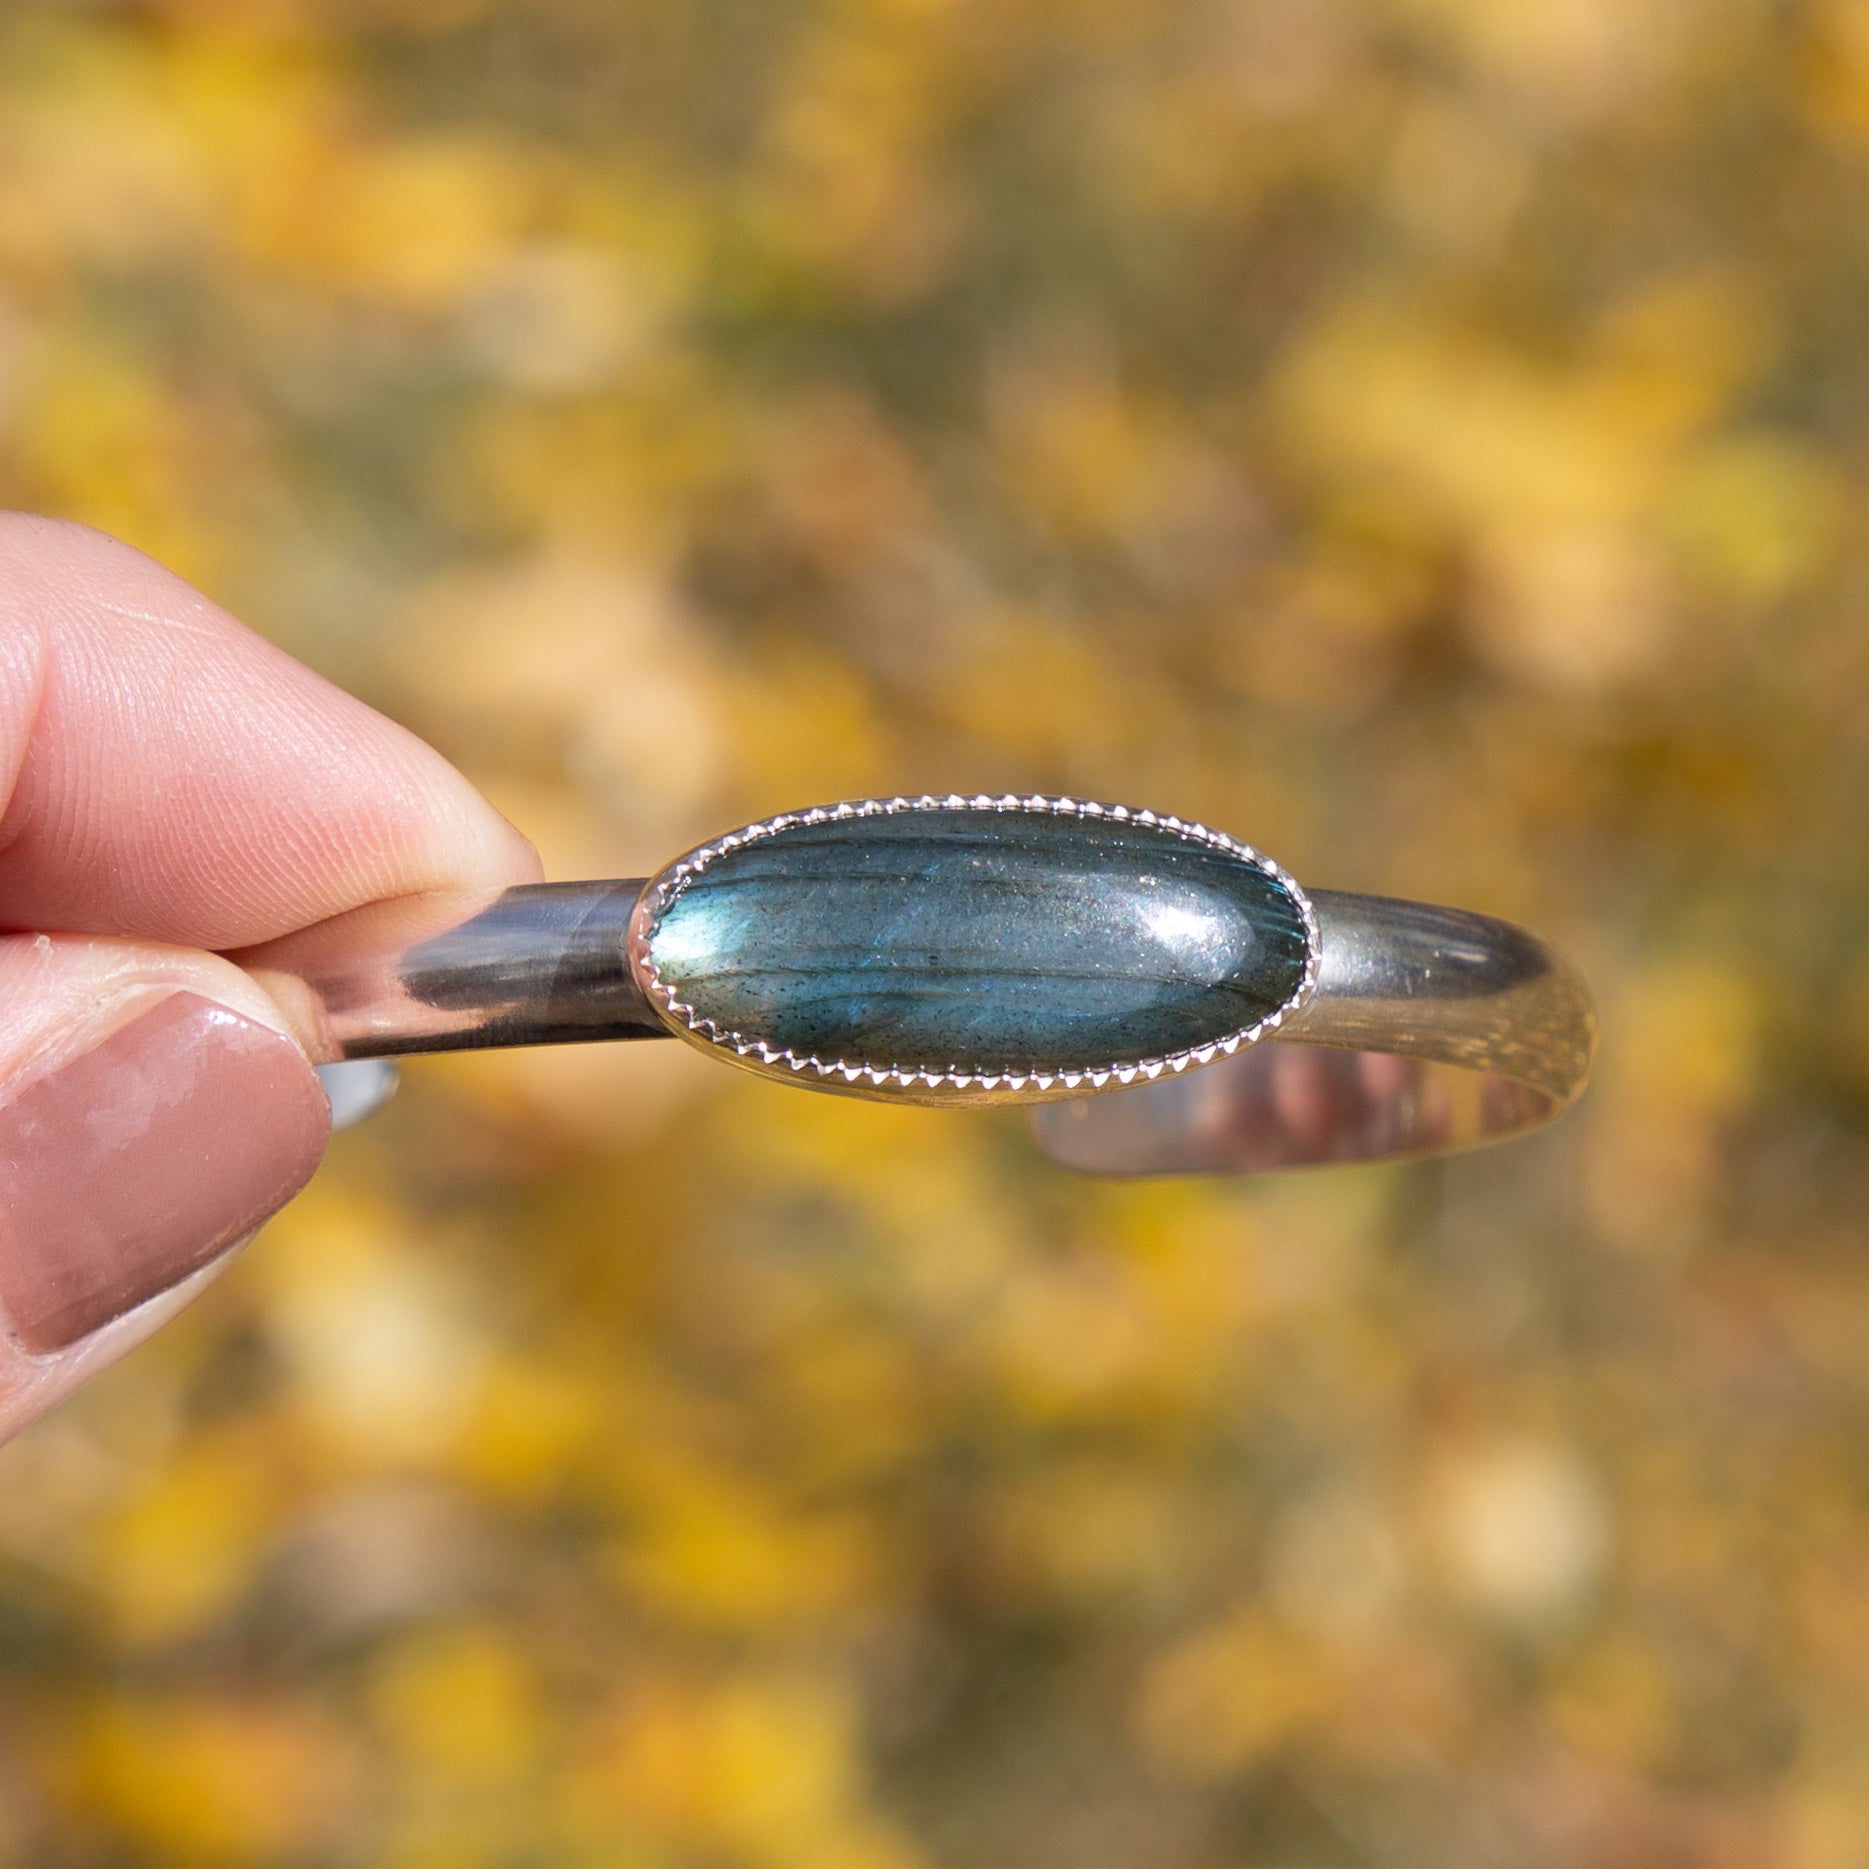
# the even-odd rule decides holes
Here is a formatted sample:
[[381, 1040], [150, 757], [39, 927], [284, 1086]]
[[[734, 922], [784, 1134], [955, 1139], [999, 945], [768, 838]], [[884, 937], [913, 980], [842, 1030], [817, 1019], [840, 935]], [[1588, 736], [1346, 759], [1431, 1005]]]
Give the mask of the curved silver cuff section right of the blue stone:
[[1596, 1017], [1577, 974], [1490, 916], [1312, 892], [1310, 1002], [1206, 1071], [1032, 1112], [1084, 1174], [1256, 1174], [1495, 1142], [1583, 1090]]

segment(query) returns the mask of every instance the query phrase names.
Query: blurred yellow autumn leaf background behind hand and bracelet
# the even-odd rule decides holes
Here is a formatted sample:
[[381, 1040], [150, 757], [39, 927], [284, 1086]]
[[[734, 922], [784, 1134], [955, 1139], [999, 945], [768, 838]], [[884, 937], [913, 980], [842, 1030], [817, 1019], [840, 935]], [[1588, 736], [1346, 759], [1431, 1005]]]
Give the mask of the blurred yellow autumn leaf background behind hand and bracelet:
[[428, 1062], [0, 1456], [0, 1860], [1869, 1863], [1869, 6], [0, 11], [0, 499], [555, 875], [1058, 789], [1564, 942], [1447, 1164]]

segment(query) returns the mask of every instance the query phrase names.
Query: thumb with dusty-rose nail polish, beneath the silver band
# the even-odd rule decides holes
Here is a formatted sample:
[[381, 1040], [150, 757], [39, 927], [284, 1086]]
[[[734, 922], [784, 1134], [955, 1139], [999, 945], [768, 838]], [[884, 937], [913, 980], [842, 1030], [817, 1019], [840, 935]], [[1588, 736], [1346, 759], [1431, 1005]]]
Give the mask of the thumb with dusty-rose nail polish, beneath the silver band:
[[179, 1310], [329, 1133], [305, 1052], [232, 963], [0, 936], [0, 1435]]

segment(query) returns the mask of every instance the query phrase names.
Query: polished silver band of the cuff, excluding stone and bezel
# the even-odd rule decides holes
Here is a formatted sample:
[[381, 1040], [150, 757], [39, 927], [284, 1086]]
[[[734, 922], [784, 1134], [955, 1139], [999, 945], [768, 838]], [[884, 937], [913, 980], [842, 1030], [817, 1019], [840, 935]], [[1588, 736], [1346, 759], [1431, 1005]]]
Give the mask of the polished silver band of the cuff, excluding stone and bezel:
[[[269, 957], [325, 1058], [667, 1037], [626, 964], [643, 878], [407, 903], [368, 940], [312, 931]], [[1549, 1121], [1596, 1043], [1577, 972], [1490, 916], [1310, 892], [1316, 987], [1213, 1063], [1039, 1103], [1039, 1148], [1091, 1174], [1243, 1174], [1439, 1153]], [[1050, 1091], [1056, 1095], [1056, 1090]], [[974, 1103], [1035, 1101], [1030, 1088]]]

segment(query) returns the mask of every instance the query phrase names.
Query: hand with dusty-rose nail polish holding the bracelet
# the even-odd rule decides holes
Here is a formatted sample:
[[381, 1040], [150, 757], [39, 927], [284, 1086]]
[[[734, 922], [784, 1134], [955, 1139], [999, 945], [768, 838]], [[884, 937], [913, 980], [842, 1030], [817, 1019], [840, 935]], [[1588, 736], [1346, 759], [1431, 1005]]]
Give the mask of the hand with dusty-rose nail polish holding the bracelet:
[[0, 1437], [318, 1166], [288, 1013], [222, 959], [538, 880], [437, 753], [127, 546], [0, 514]]

